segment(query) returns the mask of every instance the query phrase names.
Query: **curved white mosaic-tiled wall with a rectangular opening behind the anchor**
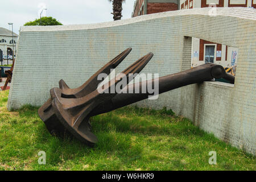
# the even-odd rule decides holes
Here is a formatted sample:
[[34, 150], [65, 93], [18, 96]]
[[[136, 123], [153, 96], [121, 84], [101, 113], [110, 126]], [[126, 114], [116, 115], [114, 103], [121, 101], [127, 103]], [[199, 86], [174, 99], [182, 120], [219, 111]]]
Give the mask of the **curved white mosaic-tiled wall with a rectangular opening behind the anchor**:
[[[216, 16], [210, 16], [210, 15]], [[144, 73], [159, 76], [191, 65], [191, 37], [239, 49], [234, 85], [204, 82], [144, 100], [140, 106], [172, 108], [201, 129], [255, 155], [256, 11], [249, 8], [189, 9], [137, 16], [115, 22], [21, 27], [8, 108], [40, 106], [63, 78], [71, 88], [127, 47], [133, 51], [122, 71], [153, 52]]]

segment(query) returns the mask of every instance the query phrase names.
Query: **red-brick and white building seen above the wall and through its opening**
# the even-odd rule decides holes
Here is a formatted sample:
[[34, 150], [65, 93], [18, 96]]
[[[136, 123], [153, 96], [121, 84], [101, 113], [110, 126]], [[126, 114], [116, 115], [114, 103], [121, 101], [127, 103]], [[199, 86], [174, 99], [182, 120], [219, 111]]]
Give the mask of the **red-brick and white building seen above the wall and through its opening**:
[[[256, 0], [137, 0], [134, 2], [132, 17], [164, 11], [213, 7], [214, 5], [216, 7], [256, 8]], [[192, 38], [192, 67], [204, 63], [221, 64], [226, 68], [236, 67], [237, 57], [238, 48]]]

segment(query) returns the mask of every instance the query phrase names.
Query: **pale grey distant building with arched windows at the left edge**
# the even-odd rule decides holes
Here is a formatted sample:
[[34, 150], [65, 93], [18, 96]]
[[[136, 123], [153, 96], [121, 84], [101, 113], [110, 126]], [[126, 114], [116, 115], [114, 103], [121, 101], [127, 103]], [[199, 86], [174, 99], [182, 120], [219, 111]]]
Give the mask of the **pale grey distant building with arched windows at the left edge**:
[[[14, 44], [13, 44], [14, 40]], [[0, 52], [3, 53], [4, 59], [12, 59], [13, 55], [16, 55], [16, 43], [18, 41], [18, 35], [6, 28], [0, 27]], [[14, 51], [14, 52], [13, 52]]]

